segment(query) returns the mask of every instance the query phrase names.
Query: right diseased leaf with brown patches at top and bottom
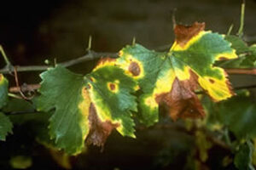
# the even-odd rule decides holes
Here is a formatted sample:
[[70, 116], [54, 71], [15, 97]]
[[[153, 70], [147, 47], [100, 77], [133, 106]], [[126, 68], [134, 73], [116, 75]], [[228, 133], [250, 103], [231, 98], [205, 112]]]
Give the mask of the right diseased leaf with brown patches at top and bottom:
[[177, 25], [176, 40], [169, 53], [157, 53], [135, 44], [119, 52], [117, 64], [139, 83], [141, 121], [151, 125], [158, 120], [158, 107], [164, 103], [173, 120], [178, 117], [205, 115], [194, 93], [199, 86], [215, 101], [233, 95], [223, 69], [213, 66], [216, 60], [235, 59], [230, 42], [205, 24]]

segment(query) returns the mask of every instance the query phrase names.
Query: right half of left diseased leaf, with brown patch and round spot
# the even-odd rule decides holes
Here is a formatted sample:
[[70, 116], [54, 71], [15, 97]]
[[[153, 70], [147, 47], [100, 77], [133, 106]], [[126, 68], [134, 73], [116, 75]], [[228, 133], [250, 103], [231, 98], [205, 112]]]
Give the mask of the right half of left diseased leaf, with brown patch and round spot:
[[122, 135], [135, 138], [131, 111], [137, 111], [137, 83], [115, 66], [115, 59], [102, 59], [87, 75], [90, 96], [89, 144], [102, 145], [113, 128]]

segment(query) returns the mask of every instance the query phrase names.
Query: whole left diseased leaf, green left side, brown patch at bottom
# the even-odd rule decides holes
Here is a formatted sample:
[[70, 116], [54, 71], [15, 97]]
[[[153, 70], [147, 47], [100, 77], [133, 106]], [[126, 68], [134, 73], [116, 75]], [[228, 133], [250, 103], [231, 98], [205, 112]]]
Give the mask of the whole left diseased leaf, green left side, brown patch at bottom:
[[135, 137], [131, 111], [137, 111], [137, 83], [102, 60], [86, 77], [57, 66], [41, 75], [43, 82], [36, 100], [38, 111], [55, 113], [49, 119], [49, 134], [57, 148], [79, 153], [87, 137], [89, 144], [102, 146], [116, 128], [122, 135]]

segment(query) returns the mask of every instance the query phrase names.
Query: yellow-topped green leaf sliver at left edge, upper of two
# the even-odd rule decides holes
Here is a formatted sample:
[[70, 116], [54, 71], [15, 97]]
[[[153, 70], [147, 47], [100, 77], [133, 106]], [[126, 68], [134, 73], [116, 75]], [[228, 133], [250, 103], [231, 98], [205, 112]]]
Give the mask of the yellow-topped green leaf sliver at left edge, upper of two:
[[0, 74], [0, 109], [6, 105], [8, 101], [8, 80]]

